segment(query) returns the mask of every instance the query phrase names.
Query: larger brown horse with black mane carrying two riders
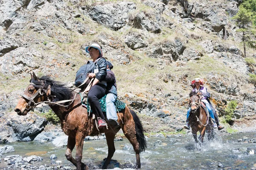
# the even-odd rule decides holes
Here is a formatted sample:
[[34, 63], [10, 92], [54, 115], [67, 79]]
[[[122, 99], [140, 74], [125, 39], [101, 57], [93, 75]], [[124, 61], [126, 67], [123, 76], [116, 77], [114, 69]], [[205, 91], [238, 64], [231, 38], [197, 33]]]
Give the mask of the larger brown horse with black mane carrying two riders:
[[[47, 76], [38, 78], [33, 73], [31, 74], [30, 84], [19, 99], [15, 111], [18, 115], [26, 115], [38, 102], [58, 102], [73, 99], [74, 96], [75, 94], [66, 88], [63, 83], [57, 82]], [[120, 127], [114, 130], [109, 128], [108, 130], [103, 129], [98, 131], [95, 120], [89, 117], [87, 109], [82, 107], [80, 96], [76, 97], [74, 101], [67, 101], [66, 103], [62, 103], [62, 105], [68, 105], [68, 107], [58, 104], [50, 105], [50, 107], [60, 119], [61, 129], [68, 136], [65, 156], [67, 160], [76, 166], [77, 170], [88, 169], [81, 162], [84, 137], [95, 136], [99, 133], [105, 133], [108, 144], [108, 157], [102, 166], [102, 169], [107, 169], [115, 152], [114, 138], [120, 128], [122, 128], [125, 137], [131, 142], [134, 148], [137, 161], [135, 168], [140, 168], [140, 152], [145, 151], [146, 140], [140, 119], [134, 111], [131, 111], [125, 106], [125, 109], [118, 114]], [[75, 146], [76, 158], [73, 158], [71, 153]]]

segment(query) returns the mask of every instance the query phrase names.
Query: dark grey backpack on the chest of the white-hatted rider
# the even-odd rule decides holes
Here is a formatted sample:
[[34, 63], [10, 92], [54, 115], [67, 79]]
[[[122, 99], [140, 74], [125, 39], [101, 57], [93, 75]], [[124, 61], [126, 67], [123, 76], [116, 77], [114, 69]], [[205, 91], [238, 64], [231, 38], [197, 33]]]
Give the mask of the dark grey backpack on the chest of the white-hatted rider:
[[[88, 73], [94, 72], [94, 63], [88, 61], [87, 64], [82, 65], [79, 70], [76, 72], [75, 86], [78, 87], [81, 85], [87, 77]], [[82, 86], [79, 88], [83, 88]]]

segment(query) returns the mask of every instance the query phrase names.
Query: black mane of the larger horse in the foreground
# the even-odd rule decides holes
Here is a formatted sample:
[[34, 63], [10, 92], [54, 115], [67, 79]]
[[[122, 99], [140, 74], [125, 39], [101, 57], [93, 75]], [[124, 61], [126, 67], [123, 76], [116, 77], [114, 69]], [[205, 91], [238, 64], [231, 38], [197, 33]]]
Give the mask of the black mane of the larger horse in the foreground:
[[69, 88], [66, 87], [65, 83], [55, 81], [49, 76], [43, 76], [39, 78], [40, 81], [35, 79], [30, 79], [29, 82], [34, 83], [33, 85], [35, 88], [41, 88], [42, 83], [41, 81], [44, 81], [44, 89], [47, 89], [49, 85], [51, 85], [51, 96], [56, 96], [52, 102], [57, 102], [61, 100], [68, 100], [73, 97], [72, 92]]

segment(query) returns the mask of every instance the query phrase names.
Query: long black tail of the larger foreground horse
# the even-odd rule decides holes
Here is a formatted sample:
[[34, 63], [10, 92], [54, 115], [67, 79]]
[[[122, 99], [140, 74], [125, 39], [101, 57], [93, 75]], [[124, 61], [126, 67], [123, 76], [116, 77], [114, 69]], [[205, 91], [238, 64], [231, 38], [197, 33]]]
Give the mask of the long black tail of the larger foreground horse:
[[131, 115], [134, 119], [135, 130], [136, 130], [136, 138], [137, 138], [137, 141], [140, 144], [140, 152], [145, 151], [145, 149], [147, 148], [147, 142], [146, 142], [146, 139], [145, 139], [145, 136], [144, 136], [144, 133], [143, 133], [143, 132], [145, 132], [145, 130], [143, 129], [142, 124], [141, 124], [140, 119], [137, 116], [137, 114], [131, 109], [130, 109], [130, 112], [131, 112]]

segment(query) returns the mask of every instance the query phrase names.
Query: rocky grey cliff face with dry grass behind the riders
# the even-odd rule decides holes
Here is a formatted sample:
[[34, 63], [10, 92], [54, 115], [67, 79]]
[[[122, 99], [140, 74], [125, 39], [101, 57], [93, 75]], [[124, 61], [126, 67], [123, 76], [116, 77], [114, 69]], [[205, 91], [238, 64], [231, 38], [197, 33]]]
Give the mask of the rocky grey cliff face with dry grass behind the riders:
[[113, 62], [119, 97], [140, 113], [182, 124], [189, 83], [201, 77], [221, 115], [237, 100], [236, 116], [253, 116], [254, 70], [231, 19], [239, 3], [0, 0], [0, 115], [13, 110], [30, 71], [73, 82], [90, 59], [84, 47], [98, 43]]

